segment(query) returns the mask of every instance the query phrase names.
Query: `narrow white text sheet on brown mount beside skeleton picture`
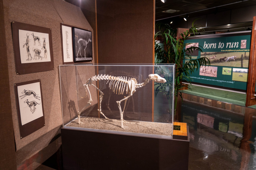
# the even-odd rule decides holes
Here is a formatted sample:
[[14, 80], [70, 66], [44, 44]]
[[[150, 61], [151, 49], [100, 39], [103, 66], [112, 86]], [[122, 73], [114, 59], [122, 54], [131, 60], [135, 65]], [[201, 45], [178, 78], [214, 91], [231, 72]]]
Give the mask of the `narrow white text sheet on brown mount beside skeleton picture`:
[[62, 63], [74, 63], [73, 59], [73, 41], [72, 26], [66, 24], [61, 25], [61, 47], [62, 47]]

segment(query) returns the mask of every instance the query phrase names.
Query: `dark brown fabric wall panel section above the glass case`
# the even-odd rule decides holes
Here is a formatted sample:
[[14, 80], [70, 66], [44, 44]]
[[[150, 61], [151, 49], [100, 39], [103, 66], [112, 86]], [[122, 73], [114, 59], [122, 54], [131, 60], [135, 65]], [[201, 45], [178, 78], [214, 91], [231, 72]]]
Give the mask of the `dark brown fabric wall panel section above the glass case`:
[[153, 0], [97, 0], [99, 63], [152, 63]]

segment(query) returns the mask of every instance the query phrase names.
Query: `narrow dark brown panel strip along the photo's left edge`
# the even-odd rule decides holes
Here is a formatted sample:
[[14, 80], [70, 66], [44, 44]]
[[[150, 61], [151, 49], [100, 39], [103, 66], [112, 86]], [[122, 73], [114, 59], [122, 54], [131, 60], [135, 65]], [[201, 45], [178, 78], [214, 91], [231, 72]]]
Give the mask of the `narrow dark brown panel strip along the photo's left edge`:
[[[3, 1], [0, 0], [0, 23], [4, 23]], [[16, 169], [15, 143], [11, 117], [11, 97], [4, 24], [0, 24], [0, 169]]]

